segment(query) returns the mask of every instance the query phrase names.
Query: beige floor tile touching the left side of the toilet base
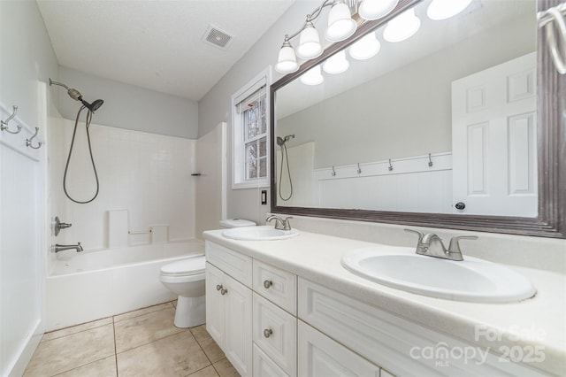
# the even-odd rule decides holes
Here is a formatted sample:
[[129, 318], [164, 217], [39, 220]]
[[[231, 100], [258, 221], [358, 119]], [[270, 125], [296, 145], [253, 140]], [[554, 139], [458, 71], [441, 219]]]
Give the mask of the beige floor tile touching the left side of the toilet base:
[[[116, 351], [131, 350], [142, 344], [156, 341], [168, 335], [173, 335], [186, 329], [173, 325], [175, 309], [170, 306], [158, 312], [150, 312], [131, 319], [114, 323], [116, 331]], [[192, 337], [192, 336], [191, 336]]]

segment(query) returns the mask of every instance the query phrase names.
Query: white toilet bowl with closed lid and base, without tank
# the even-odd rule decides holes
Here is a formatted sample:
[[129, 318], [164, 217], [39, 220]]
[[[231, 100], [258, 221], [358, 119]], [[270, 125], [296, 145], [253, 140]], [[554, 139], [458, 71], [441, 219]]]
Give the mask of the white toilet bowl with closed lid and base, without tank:
[[204, 300], [204, 256], [180, 260], [161, 267], [160, 281], [179, 295], [175, 311], [176, 327], [195, 327], [206, 320]]

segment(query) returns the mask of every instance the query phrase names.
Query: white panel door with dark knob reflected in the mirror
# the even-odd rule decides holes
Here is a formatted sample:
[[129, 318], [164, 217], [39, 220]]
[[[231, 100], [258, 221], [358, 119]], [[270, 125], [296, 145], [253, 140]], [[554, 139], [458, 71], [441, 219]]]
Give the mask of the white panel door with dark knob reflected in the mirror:
[[454, 212], [535, 217], [536, 135], [536, 53], [453, 81]]

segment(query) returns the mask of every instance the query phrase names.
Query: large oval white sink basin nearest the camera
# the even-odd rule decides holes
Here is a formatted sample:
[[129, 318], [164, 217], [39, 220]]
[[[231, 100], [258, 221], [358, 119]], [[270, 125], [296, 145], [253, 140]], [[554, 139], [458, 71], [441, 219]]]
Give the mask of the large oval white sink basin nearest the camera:
[[341, 259], [351, 273], [395, 289], [424, 296], [476, 303], [508, 303], [534, 296], [523, 275], [483, 259], [432, 258], [413, 248], [371, 247], [348, 251]]

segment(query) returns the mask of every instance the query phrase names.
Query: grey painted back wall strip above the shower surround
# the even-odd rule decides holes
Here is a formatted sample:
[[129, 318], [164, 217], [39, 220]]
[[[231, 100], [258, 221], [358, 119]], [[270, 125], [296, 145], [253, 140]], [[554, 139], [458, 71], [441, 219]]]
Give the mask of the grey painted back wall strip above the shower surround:
[[[198, 104], [195, 101], [103, 79], [65, 66], [60, 67], [59, 78], [58, 81], [69, 88], [78, 89], [89, 103], [98, 98], [104, 100], [103, 106], [96, 111], [98, 124], [187, 139], [197, 137]], [[51, 94], [59, 99], [61, 115], [65, 119], [75, 119], [80, 104], [67, 95], [65, 88], [52, 86]]]

